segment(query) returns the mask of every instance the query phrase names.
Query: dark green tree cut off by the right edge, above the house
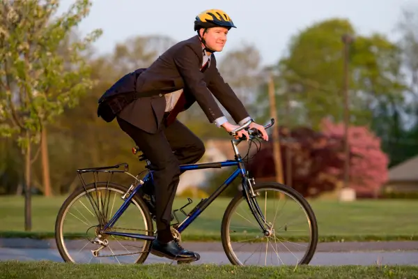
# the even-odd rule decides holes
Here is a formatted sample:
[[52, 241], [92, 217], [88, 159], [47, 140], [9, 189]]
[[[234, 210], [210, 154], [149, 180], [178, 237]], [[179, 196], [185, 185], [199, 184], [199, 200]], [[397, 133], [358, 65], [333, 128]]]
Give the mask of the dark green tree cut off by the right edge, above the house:
[[381, 105], [382, 119], [375, 130], [382, 137], [383, 149], [389, 153], [390, 165], [397, 165], [418, 154], [418, 5], [409, 3], [403, 7], [398, 22], [402, 50], [402, 69], [406, 88], [402, 102]]

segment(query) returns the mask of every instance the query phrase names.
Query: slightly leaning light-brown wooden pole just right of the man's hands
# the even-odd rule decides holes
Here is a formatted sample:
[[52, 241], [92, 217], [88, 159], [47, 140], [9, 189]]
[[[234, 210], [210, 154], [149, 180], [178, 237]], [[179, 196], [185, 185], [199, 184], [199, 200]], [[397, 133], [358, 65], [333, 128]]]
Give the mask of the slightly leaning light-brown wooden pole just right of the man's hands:
[[274, 171], [276, 173], [276, 181], [283, 184], [284, 181], [283, 181], [283, 167], [281, 165], [279, 125], [277, 121], [276, 100], [274, 97], [274, 80], [273, 80], [272, 74], [270, 74], [270, 80], [268, 82], [268, 96], [270, 98], [270, 117], [274, 118], [274, 121], [275, 121], [274, 125], [272, 126]]

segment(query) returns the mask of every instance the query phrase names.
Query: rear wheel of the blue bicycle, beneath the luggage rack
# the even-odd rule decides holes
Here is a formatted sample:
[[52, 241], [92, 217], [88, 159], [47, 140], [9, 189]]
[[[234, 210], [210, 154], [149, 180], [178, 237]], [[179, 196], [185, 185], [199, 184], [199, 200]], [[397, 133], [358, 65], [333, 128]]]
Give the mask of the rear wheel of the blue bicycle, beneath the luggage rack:
[[[151, 241], [100, 234], [125, 202], [121, 197], [126, 191], [116, 183], [90, 183], [86, 190], [77, 188], [65, 200], [55, 223], [56, 246], [65, 262], [141, 264], [146, 260]], [[132, 197], [114, 227], [107, 231], [153, 235], [153, 221], [144, 201]]]

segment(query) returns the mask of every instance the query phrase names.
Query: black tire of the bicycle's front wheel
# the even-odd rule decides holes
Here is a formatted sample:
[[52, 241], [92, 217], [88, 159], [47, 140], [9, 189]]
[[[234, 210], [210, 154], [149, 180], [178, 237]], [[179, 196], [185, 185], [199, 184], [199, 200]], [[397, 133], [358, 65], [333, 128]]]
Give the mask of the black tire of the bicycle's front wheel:
[[[287, 193], [291, 197], [295, 198], [297, 202], [300, 202], [302, 205], [304, 211], [307, 213], [308, 218], [311, 222], [311, 235], [312, 235], [312, 241], [310, 243], [308, 252], [303, 257], [303, 259], [299, 262], [299, 264], [309, 264], [311, 262], [312, 257], [314, 257], [316, 246], [318, 243], [318, 223], [316, 220], [316, 216], [314, 214], [314, 211], [312, 210], [311, 206], [307, 202], [306, 199], [300, 193], [298, 193], [295, 189], [288, 187], [281, 183], [275, 183], [275, 182], [263, 182], [263, 183], [256, 183], [255, 186], [253, 186], [254, 192], [257, 190], [263, 190], [265, 188], [275, 188], [278, 190], [281, 190], [284, 193]], [[229, 202], [229, 205], [226, 207], [226, 210], [224, 212], [224, 217], [222, 218], [222, 226], [221, 226], [221, 239], [222, 239], [222, 246], [224, 248], [224, 252], [226, 254], [226, 257], [228, 257], [229, 261], [233, 265], [243, 265], [238, 262], [238, 259], [234, 256], [234, 252], [230, 245], [230, 239], [228, 235], [229, 231], [229, 223], [231, 221], [231, 211], [235, 208], [235, 204], [240, 202], [240, 199], [243, 198], [242, 193], [239, 193], [238, 195], [235, 195], [231, 202]]]

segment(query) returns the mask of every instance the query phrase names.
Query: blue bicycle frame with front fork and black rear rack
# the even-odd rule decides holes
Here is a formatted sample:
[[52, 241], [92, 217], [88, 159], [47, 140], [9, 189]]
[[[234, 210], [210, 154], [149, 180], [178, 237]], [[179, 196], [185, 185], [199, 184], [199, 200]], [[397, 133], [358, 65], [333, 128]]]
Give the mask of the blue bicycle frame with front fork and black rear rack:
[[[270, 123], [269, 126], [272, 126], [273, 123], [274, 123], [274, 120], [272, 119], [272, 123]], [[241, 141], [242, 140], [231, 140], [231, 144], [233, 146], [233, 150], [234, 150], [234, 153], [235, 153], [235, 160], [226, 160], [226, 161], [215, 162], [215, 163], [199, 163], [199, 164], [180, 165], [180, 171], [182, 171], [182, 172], [189, 171], [189, 170], [194, 170], [194, 169], [212, 169], [212, 168], [222, 168], [222, 167], [231, 167], [231, 166], [237, 166], [237, 169], [235, 169], [235, 171], [231, 174], [231, 176], [229, 176], [229, 178], [226, 179], [226, 181], [224, 181], [224, 183], [222, 183], [222, 185], [219, 186], [208, 198], [201, 199], [201, 202], [196, 204], [196, 206], [194, 206], [194, 209], [192, 209], [192, 211], [190, 211], [187, 215], [185, 214], [186, 215], [185, 220], [183, 220], [183, 222], [180, 223], [178, 225], [178, 227], [176, 228], [179, 233], [183, 232], [190, 224], [192, 224], [193, 221], [222, 192], [224, 192], [224, 190], [238, 176], [241, 175], [241, 178], [242, 178], [242, 194], [244, 195], [245, 199], [247, 200], [247, 204], [249, 205], [251, 213], [253, 214], [254, 218], [256, 218], [257, 223], [258, 223], [258, 225], [260, 225], [264, 234], [266, 236], [268, 236], [270, 234], [269, 233], [270, 225], [267, 222], [265, 222], [265, 218], [263, 216], [263, 213], [262, 213], [260, 207], [258, 206], [258, 203], [256, 202], [256, 199], [255, 199], [256, 195], [254, 194], [254, 190], [252, 189], [252, 186], [251, 186], [251, 180], [252, 179], [249, 179], [249, 177], [247, 176], [247, 171], [245, 169], [245, 165], [242, 161], [240, 153], [238, 152], [237, 145]], [[147, 163], [149, 164], [148, 160], [147, 160]], [[105, 170], [105, 169], [115, 168], [115, 167], [118, 168], [121, 165], [125, 165], [125, 171]], [[116, 165], [116, 166], [112, 166], [112, 167], [99, 167], [99, 168], [93, 168], [93, 169], [79, 169], [79, 170], [77, 170], [77, 172], [79, 173], [79, 176], [80, 176], [80, 174], [82, 174], [84, 172], [124, 172], [126, 174], [129, 174], [130, 176], [133, 176], [132, 174], [127, 172], [127, 164], [126, 163]], [[135, 176], [133, 176], [133, 177], [135, 177]], [[82, 179], [81, 176], [80, 176], [80, 179]], [[135, 179], [137, 179], [137, 178], [135, 178]], [[148, 172], [148, 174], [144, 178], [144, 181], [147, 181], [148, 179], [151, 179], [151, 181], [153, 180], [153, 172], [152, 171]], [[120, 218], [122, 216], [123, 212], [125, 212], [127, 207], [130, 205], [130, 202], [132, 201], [132, 197], [134, 197], [134, 195], [137, 194], [138, 190], [144, 185], [144, 181], [141, 181], [139, 179], [137, 179], [137, 180], [139, 181], [139, 183], [137, 184], [137, 186], [134, 186], [133, 189], [132, 189], [132, 187], [133, 187], [133, 184], [132, 184], [131, 188], [129, 190], [127, 190], [127, 193], [125, 193], [125, 195], [129, 194], [128, 197], [125, 199], [125, 202], [123, 202], [122, 206], [118, 209], [118, 211], [116, 211], [114, 216], [109, 220], [109, 222], [107, 222], [107, 224], [104, 225], [104, 227], [102, 229], [102, 232], [100, 232], [101, 234], [125, 236], [125, 237], [129, 237], [129, 238], [133, 238], [133, 239], [145, 239], [145, 240], [148, 240], [148, 241], [149, 240], [152, 241], [152, 240], [155, 239], [155, 236], [149, 236], [149, 235], [145, 235], [145, 234], [130, 234], [130, 233], [125, 233], [125, 232], [107, 232], [107, 229], [109, 227], [112, 227], [116, 223], [118, 218]], [[82, 179], [82, 181], [83, 181], [83, 179]], [[186, 206], [187, 205], [188, 204], [186, 204]], [[183, 206], [183, 208], [184, 207], [185, 206]], [[180, 209], [180, 210], [182, 210], [182, 209]], [[184, 213], [183, 210], [182, 210], [182, 212]]]

